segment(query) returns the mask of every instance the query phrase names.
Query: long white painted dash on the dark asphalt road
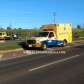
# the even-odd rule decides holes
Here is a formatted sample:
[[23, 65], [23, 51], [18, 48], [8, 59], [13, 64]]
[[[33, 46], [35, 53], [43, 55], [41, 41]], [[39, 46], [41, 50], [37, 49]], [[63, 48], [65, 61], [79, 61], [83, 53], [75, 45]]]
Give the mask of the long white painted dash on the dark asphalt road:
[[58, 61], [53, 61], [53, 62], [50, 62], [48, 64], [44, 64], [44, 65], [41, 65], [39, 67], [29, 69], [29, 72], [32, 72], [32, 71], [35, 71], [35, 70], [38, 70], [38, 69], [41, 69], [41, 68], [45, 68], [45, 67], [48, 67], [48, 66], [51, 66], [51, 65], [54, 65], [54, 64], [58, 64], [58, 63], [61, 63], [61, 62], [64, 62], [64, 61], [67, 61], [67, 60], [70, 60], [70, 59], [73, 59], [73, 58], [77, 58], [79, 56], [80, 55], [77, 54], [77, 55], [74, 55], [74, 56], [71, 56], [71, 57], [68, 57], [68, 58], [65, 58], [65, 59], [61, 59], [61, 60], [58, 60]]

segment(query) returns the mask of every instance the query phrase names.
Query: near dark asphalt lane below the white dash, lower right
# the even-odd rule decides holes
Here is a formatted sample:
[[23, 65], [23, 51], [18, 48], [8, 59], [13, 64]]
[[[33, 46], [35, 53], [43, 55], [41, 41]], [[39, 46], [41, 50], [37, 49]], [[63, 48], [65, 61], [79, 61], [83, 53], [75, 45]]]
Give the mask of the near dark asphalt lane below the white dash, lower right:
[[6, 84], [84, 84], [84, 57], [29, 72]]

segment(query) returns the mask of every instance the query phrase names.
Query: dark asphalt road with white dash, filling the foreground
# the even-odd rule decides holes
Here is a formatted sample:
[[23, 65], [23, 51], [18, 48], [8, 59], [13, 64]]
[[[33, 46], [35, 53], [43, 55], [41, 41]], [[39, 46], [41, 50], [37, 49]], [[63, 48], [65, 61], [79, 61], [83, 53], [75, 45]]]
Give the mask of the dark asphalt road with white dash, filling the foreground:
[[59, 51], [0, 62], [0, 84], [84, 84], [84, 45]]

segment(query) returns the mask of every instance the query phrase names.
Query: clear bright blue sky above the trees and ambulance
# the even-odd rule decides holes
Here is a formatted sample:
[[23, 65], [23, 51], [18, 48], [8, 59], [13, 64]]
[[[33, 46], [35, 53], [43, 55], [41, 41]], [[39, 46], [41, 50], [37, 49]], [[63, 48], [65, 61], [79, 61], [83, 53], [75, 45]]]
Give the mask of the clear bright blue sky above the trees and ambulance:
[[44, 24], [84, 24], [84, 0], [0, 0], [0, 27], [39, 28]]

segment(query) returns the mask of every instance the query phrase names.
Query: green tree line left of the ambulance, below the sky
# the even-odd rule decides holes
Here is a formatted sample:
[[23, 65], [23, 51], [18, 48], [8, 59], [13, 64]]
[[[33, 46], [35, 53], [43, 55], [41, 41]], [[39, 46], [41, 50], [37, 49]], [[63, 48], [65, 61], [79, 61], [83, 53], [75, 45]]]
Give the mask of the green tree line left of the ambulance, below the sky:
[[18, 37], [25, 38], [31, 37], [34, 34], [37, 34], [40, 29], [33, 28], [33, 29], [23, 29], [23, 28], [11, 28], [7, 27], [6, 29], [0, 28], [0, 32], [6, 32], [8, 36], [12, 34], [16, 34]]

